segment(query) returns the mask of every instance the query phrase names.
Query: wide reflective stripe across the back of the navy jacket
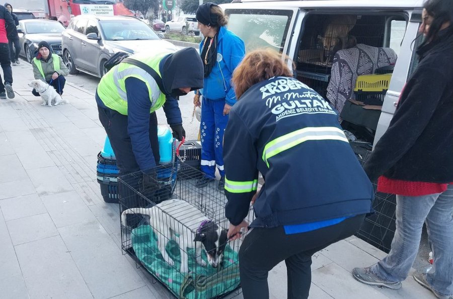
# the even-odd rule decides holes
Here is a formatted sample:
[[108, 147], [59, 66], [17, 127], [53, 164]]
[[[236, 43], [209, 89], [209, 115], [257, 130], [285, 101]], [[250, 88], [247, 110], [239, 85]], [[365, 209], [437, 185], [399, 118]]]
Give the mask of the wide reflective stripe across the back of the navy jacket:
[[308, 127], [278, 137], [266, 144], [263, 151], [263, 161], [269, 167], [269, 158], [309, 140], [339, 140], [348, 142], [346, 135], [339, 128]]

